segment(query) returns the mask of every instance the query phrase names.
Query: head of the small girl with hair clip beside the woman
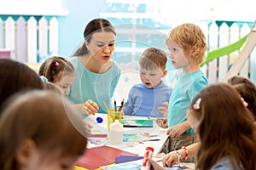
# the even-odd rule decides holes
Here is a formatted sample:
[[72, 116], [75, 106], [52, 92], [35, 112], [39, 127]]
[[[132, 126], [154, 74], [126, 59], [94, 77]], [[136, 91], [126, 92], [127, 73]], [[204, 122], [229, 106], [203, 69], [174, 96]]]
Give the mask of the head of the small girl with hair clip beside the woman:
[[73, 64], [59, 56], [45, 59], [38, 71], [39, 76], [44, 76], [67, 95], [75, 77]]

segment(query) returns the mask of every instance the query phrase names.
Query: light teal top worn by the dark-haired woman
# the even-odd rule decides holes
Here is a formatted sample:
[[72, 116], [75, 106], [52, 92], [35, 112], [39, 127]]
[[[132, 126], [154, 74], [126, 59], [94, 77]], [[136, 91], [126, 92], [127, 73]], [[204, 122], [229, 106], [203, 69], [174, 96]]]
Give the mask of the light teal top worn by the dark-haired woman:
[[111, 101], [121, 73], [119, 66], [113, 61], [108, 71], [97, 74], [88, 71], [77, 57], [68, 60], [75, 69], [75, 79], [67, 95], [68, 99], [74, 104], [82, 104], [91, 99], [99, 105], [99, 113], [107, 113], [104, 101], [108, 108], [113, 108]]

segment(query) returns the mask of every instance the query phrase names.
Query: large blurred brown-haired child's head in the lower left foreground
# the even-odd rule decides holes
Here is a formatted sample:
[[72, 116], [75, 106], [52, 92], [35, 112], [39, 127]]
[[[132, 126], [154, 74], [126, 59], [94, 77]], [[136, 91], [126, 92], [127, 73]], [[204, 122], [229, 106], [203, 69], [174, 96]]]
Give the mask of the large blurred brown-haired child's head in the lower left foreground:
[[0, 120], [0, 168], [73, 168], [87, 144], [84, 122], [73, 105], [49, 91], [8, 101]]

